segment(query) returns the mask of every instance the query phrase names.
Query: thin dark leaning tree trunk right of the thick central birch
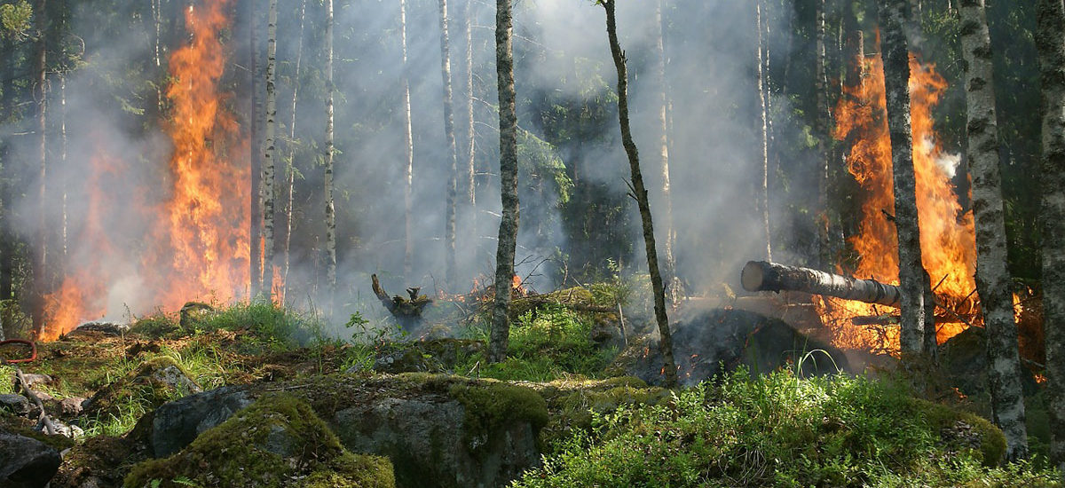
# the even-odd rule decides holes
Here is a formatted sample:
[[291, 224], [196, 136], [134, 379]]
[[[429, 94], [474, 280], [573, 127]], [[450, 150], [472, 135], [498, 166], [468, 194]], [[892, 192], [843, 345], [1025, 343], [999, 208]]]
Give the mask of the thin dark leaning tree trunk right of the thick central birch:
[[606, 9], [606, 33], [610, 39], [610, 54], [618, 70], [618, 118], [621, 124], [621, 141], [628, 156], [628, 168], [633, 176], [633, 191], [636, 204], [640, 209], [640, 221], [643, 223], [643, 245], [648, 255], [648, 271], [651, 273], [651, 288], [655, 295], [655, 321], [658, 323], [658, 334], [661, 336], [661, 355], [666, 386], [676, 386], [676, 362], [673, 360], [673, 338], [669, 330], [669, 318], [666, 315], [666, 290], [662, 287], [662, 276], [658, 271], [658, 253], [655, 249], [655, 230], [651, 221], [651, 205], [648, 202], [648, 190], [643, 185], [643, 175], [640, 173], [640, 156], [633, 142], [633, 132], [628, 127], [628, 72], [625, 67], [625, 53], [618, 43], [618, 25], [615, 18], [615, 1], [603, 0]]

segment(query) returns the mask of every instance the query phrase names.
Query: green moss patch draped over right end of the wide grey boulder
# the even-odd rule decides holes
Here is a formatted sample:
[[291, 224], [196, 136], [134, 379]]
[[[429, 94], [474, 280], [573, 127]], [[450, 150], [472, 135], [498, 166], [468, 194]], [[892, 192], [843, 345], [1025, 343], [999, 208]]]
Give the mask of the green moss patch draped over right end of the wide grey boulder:
[[465, 407], [465, 429], [473, 437], [512, 422], [529, 422], [534, 433], [547, 424], [547, 404], [530, 388], [501, 381], [456, 383], [448, 392]]

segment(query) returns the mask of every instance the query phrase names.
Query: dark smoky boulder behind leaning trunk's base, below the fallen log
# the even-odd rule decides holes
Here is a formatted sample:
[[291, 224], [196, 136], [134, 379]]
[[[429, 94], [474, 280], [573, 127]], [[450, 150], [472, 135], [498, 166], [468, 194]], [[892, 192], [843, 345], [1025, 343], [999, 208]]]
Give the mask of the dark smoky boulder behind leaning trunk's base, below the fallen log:
[[[790, 368], [802, 376], [834, 374], [848, 368], [843, 353], [826, 342], [777, 319], [743, 310], [689, 313], [671, 324], [670, 330], [682, 385], [695, 385], [741, 365], [756, 373]], [[663, 368], [658, 339], [645, 338], [632, 341], [611, 372], [660, 385]]]

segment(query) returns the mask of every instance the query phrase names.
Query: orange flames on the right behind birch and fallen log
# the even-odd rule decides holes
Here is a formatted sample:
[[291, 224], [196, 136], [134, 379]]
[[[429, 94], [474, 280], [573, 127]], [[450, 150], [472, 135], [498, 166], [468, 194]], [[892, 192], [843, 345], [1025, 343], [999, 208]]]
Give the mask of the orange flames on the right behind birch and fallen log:
[[[898, 240], [890, 214], [895, 196], [891, 186], [891, 143], [885, 116], [883, 65], [879, 55], [859, 60], [864, 83], [848, 90], [834, 112], [834, 136], [852, 142], [848, 170], [867, 195], [862, 206], [858, 233], [849, 244], [857, 255], [856, 267], [840, 272], [857, 278], [898, 283]], [[962, 213], [951, 183], [956, 156], [945, 152], [934, 131], [932, 109], [947, 88], [935, 66], [910, 59], [910, 93], [917, 177], [917, 208], [924, 267], [943, 308], [937, 313], [937, 340], [943, 343], [979, 321], [973, 272], [976, 237], [971, 212]], [[897, 353], [899, 329], [889, 325], [855, 325], [855, 318], [883, 316], [890, 309], [836, 298], [815, 297], [822, 319], [833, 330], [838, 347]], [[968, 316], [971, 319], [963, 319]]]

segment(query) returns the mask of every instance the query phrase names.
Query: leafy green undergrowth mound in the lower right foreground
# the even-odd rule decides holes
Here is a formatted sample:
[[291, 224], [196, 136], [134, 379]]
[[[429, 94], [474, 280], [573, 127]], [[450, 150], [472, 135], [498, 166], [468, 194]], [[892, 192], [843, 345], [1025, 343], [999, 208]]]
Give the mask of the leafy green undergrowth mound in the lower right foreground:
[[979, 423], [989, 445], [1001, 433], [940, 407], [890, 381], [740, 371], [667, 404], [593, 414], [591, 432], [513, 486], [1060, 486], [1053, 472], [987, 468], [984, 451], [945, 440], [940, 426], [957, 421]]

